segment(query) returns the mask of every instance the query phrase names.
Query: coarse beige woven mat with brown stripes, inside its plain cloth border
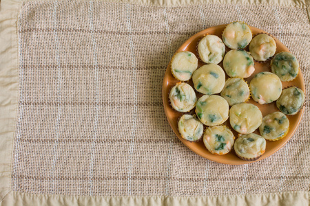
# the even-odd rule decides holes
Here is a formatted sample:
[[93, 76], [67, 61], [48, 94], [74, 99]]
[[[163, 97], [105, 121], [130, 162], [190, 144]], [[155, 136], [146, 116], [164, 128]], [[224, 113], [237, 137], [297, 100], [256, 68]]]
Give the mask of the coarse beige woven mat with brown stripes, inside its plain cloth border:
[[[178, 140], [162, 103], [165, 69], [190, 36], [245, 21], [296, 55], [306, 84], [295, 135], [247, 165], [203, 159]], [[309, 191], [307, 8], [155, 7], [29, 1], [17, 21], [19, 100], [14, 192], [71, 196], [214, 196]]]

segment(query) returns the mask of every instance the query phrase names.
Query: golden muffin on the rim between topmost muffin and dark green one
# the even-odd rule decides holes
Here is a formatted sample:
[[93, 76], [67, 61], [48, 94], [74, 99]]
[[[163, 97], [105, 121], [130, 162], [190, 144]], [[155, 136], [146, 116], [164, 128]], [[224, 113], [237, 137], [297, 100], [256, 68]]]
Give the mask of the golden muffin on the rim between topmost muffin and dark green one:
[[251, 56], [258, 61], [265, 61], [271, 58], [276, 53], [276, 49], [276, 41], [267, 34], [258, 34], [249, 45]]

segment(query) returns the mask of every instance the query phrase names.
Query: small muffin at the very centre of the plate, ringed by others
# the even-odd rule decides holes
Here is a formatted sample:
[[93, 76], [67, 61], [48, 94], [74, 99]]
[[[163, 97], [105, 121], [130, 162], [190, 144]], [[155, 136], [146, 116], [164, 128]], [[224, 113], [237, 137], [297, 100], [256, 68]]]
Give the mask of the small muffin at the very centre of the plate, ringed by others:
[[230, 78], [225, 82], [220, 95], [228, 102], [229, 106], [246, 102], [250, 95], [249, 86], [242, 78]]

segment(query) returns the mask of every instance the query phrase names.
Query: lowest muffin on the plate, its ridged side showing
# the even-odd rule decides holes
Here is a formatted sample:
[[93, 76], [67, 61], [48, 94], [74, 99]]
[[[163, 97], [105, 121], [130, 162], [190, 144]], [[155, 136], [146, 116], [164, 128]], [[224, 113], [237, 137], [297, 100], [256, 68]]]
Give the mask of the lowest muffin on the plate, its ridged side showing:
[[240, 159], [254, 161], [265, 153], [266, 140], [254, 133], [241, 135], [235, 141], [234, 150]]

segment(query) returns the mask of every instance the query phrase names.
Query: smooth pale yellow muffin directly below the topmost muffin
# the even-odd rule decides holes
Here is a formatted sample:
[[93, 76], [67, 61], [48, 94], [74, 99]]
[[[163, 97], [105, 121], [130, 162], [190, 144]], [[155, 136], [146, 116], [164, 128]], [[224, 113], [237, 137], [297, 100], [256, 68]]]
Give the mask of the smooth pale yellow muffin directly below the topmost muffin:
[[255, 71], [254, 60], [249, 52], [237, 49], [227, 52], [223, 67], [230, 77], [248, 78]]

